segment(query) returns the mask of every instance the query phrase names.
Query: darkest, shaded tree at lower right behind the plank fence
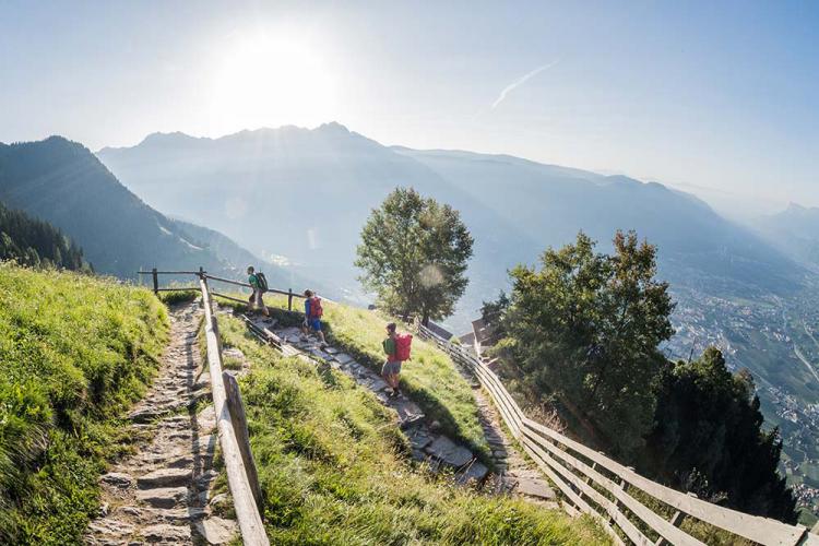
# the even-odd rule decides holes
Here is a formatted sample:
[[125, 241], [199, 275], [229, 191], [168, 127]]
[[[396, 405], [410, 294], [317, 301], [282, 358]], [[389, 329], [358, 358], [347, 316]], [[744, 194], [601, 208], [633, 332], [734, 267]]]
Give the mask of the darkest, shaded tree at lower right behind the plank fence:
[[728, 371], [709, 347], [666, 369], [656, 389], [645, 471], [665, 483], [745, 512], [795, 523], [795, 500], [776, 467], [782, 440], [765, 431], [747, 370]]

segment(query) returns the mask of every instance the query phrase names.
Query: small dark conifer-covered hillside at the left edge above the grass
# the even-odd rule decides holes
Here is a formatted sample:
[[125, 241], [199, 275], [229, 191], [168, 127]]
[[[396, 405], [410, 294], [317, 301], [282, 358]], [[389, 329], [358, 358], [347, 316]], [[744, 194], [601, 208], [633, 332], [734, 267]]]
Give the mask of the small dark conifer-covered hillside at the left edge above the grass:
[[0, 203], [0, 261], [14, 260], [32, 268], [91, 271], [83, 250], [47, 222], [32, 218]]

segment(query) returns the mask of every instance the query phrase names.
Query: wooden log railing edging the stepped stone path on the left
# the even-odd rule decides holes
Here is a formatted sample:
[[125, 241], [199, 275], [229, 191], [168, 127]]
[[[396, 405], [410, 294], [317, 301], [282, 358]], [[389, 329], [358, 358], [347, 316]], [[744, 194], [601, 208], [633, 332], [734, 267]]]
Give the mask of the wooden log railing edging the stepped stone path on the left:
[[219, 447], [225, 461], [227, 485], [239, 522], [241, 541], [246, 546], [269, 546], [270, 541], [264, 531], [261, 518], [261, 489], [256, 463], [250, 451], [245, 407], [241, 402], [238, 383], [229, 373], [223, 371], [222, 342], [218, 335], [218, 323], [213, 314], [213, 299], [207, 286], [207, 275], [198, 272], [149, 272], [154, 277], [154, 290], [157, 289], [157, 274], [193, 274], [199, 277], [199, 287], [168, 289], [199, 289], [204, 306], [204, 334], [207, 347], [207, 368], [213, 392], [213, 405], [216, 412]]

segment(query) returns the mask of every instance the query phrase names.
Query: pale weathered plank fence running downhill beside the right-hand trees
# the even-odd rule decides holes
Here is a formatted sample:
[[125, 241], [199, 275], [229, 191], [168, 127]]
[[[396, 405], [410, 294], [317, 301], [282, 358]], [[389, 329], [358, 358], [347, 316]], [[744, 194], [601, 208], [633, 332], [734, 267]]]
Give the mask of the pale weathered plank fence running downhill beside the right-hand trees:
[[423, 325], [418, 330], [477, 377], [514, 438], [566, 496], [570, 502], [567, 510], [590, 514], [615, 543], [624, 544], [625, 536], [646, 546], [701, 545], [700, 539], [679, 529], [685, 519], [695, 519], [758, 544], [819, 546], [819, 535], [802, 525], [738, 512], [663, 486], [530, 419], [482, 360]]

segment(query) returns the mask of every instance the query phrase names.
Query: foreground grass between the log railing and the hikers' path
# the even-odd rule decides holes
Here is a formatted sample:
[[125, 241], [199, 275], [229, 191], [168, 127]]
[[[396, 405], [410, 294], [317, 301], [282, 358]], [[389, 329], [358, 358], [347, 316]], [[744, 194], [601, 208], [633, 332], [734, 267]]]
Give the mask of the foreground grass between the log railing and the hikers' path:
[[274, 353], [236, 318], [219, 330], [251, 364], [241, 392], [271, 544], [608, 543], [589, 519], [432, 476], [410, 462], [394, 414], [344, 373]]

